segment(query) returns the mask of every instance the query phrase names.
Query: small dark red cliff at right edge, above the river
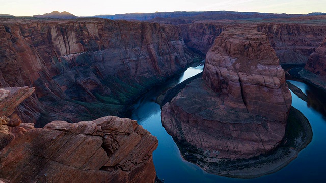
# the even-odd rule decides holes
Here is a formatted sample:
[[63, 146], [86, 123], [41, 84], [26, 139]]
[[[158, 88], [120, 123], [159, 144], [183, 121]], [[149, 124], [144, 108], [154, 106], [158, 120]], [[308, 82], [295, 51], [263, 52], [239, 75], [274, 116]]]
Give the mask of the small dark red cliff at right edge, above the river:
[[316, 51], [310, 55], [305, 69], [317, 75], [326, 75], [326, 39], [324, 39]]

